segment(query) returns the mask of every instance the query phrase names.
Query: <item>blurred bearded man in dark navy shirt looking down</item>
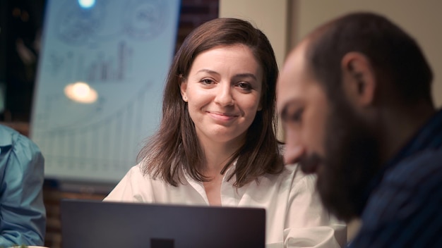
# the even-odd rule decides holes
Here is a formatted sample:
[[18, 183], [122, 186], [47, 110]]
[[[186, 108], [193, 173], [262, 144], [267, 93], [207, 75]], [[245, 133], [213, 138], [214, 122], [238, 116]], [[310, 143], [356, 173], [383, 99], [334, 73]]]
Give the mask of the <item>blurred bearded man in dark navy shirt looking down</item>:
[[417, 43], [352, 13], [318, 27], [277, 84], [285, 163], [316, 173], [323, 204], [362, 218], [350, 247], [442, 247], [442, 112]]

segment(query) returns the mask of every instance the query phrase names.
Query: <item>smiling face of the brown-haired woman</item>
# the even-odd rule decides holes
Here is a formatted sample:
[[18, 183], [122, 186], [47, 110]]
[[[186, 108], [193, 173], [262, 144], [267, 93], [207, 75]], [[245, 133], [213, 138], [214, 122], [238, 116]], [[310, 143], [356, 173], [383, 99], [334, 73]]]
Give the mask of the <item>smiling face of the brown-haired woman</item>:
[[240, 145], [261, 110], [263, 70], [248, 46], [216, 46], [196, 56], [181, 82], [201, 144]]

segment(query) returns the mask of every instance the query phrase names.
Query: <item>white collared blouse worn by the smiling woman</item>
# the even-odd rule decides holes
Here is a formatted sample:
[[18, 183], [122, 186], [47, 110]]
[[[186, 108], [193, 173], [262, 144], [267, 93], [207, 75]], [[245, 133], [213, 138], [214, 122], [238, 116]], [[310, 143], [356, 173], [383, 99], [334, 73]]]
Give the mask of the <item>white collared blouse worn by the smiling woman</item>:
[[[266, 247], [345, 247], [347, 228], [328, 214], [316, 194], [314, 175], [305, 175], [297, 165], [285, 166], [278, 175], [264, 175], [258, 182], [234, 187], [221, 185], [222, 206], [258, 207], [266, 210]], [[156, 204], [209, 205], [202, 182], [186, 175], [186, 183], [174, 187], [143, 175], [133, 166], [104, 201]]]

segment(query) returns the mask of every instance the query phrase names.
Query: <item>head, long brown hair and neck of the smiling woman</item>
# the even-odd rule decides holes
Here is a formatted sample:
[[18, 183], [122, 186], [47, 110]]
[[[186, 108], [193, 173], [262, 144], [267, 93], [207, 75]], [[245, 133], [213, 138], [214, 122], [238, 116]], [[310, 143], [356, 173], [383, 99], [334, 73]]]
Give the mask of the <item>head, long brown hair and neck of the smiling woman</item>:
[[[281, 173], [275, 138], [277, 73], [270, 42], [250, 23], [218, 18], [193, 30], [169, 70], [160, 130], [138, 156], [143, 171], [177, 186], [184, 171], [198, 182], [213, 182], [230, 168], [234, 173], [227, 179], [235, 175], [233, 184], [239, 187], [266, 173]], [[251, 110], [244, 112], [244, 102]], [[224, 132], [230, 136], [218, 135], [221, 140], [206, 137], [202, 117], [216, 113], [249, 123], [229, 125]]]

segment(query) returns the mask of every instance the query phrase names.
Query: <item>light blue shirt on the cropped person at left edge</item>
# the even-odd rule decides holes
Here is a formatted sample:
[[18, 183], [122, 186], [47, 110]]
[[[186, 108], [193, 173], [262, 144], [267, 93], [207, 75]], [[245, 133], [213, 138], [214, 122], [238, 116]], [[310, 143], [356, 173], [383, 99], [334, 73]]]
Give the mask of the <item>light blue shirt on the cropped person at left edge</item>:
[[37, 145], [0, 125], [0, 247], [44, 245], [44, 159]]

